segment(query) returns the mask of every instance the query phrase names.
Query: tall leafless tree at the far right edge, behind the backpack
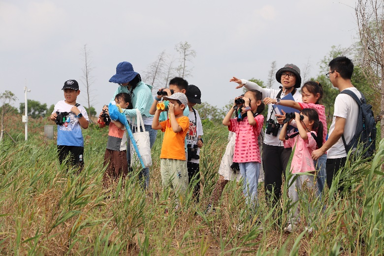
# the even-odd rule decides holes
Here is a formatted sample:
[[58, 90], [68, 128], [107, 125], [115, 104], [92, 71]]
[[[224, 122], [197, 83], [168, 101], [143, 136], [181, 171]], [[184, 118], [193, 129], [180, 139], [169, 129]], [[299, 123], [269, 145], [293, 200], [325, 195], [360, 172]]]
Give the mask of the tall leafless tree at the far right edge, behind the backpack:
[[358, 0], [360, 66], [371, 87], [381, 94], [380, 126], [384, 138], [384, 0]]

